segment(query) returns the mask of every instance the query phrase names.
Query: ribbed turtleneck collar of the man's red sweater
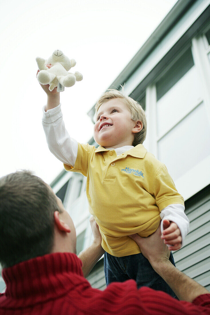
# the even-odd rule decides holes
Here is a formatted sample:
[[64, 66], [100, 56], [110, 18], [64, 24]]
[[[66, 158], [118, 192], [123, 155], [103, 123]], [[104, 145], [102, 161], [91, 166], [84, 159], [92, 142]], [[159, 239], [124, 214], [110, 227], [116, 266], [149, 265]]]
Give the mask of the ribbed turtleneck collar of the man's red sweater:
[[25, 305], [32, 305], [63, 295], [86, 281], [81, 266], [73, 253], [53, 253], [5, 268], [6, 300], [18, 299], [21, 304], [23, 298]]

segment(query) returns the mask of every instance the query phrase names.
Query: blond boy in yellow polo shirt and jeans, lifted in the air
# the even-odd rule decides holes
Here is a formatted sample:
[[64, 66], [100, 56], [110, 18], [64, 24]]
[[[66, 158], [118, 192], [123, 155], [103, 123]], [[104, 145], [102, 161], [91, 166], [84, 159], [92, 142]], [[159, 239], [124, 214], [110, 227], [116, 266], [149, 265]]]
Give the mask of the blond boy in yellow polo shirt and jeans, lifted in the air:
[[[99, 147], [80, 144], [68, 135], [62, 120], [59, 94], [48, 95], [43, 127], [50, 151], [68, 171], [87, 176], [89, 210], [102, 234], [107, 285], [135, 279], [174, 296], [128, 236], [147, 237], [165, 226], [162, 238], [179, 249], [189, 229], [184, 200], [163, 163], [143, 147], [146, 117], [142, 107], [122, 92], [110, 90], [96, 103], [94, 139]], [[84, 123], [85, 124], [85, 123]], [[163, 222], [163, 221], [162, 221]], [[163, 230], [163, 223], [162, 230]], [[174, 264], [172, 254], [170, 260]]]

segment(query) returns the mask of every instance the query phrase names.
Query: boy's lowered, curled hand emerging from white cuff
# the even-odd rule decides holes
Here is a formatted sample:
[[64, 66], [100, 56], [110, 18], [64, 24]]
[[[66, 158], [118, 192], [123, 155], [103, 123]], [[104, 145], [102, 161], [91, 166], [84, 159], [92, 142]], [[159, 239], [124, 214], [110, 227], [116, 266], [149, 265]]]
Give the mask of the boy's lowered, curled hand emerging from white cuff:
[[163, 220], [163, 228], [161, 238], [165, 244], [169, 245], [169, 250], [180, 249], [182, 236], [177, 224], [169, 220]]

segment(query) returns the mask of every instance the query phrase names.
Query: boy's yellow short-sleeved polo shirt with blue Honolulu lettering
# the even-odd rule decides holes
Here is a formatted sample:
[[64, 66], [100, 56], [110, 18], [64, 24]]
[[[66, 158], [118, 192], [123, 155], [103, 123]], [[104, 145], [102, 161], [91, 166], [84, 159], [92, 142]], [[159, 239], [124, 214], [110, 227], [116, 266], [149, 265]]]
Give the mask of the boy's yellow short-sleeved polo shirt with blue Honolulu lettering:
[[114, 150], [79, 143], [74, 168], [64, 167], [87, 176], [89, 211], [103, 249], [116, 257], [140, 253], [128, 235], [149, 236], [158, 228], [163, 208], [184, 204], [166, 166], [142, 144], [117, 157]]

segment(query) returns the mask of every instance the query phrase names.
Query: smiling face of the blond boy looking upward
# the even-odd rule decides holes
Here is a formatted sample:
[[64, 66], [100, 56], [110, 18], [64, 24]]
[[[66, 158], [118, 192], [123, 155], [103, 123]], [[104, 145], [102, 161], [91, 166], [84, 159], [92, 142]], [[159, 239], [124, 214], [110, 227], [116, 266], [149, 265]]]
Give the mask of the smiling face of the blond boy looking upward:
[[93, 136], [96, 143], [105, 148], [131, 146], [135, 124], [123, 101], [111, 99], [99, 107]]

